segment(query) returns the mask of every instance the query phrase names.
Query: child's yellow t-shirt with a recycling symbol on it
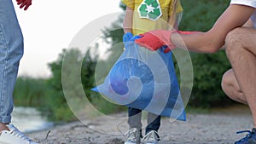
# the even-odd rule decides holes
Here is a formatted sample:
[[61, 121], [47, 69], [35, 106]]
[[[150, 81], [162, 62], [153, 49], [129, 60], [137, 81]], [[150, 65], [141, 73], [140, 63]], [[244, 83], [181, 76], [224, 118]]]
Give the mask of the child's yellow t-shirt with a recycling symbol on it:
[[[172, 1], [173, 0], [122, 0], [127, 7], [133, 9], [133, 20], [132, 20], [132, 33], [133, 35], [138, 35], [144, 32], [157, 30], [157, 29], [168, 29], [169, 17], [172, 17]], [[147, 11], [154, 11], [154, 3], [160, 5], [160, 18], [156, 20], [149, 20], [148, 18], [142, 18], [140, 9], [145, 9]], [[149, 3], [149, 4], [147, 4]], [[147, 7], [146, 7], [147, 5]], [[153, 6], [153, 7], [152, 7]], [[152, 10], [153, 9], [153, 10]], [[143, 9], [144, 10], [144, 9]], [[157, 9], [158, 10], [158, 9]], [[176, 13], [181, 13], [183, 11], [181, 3], [177, 0]]]

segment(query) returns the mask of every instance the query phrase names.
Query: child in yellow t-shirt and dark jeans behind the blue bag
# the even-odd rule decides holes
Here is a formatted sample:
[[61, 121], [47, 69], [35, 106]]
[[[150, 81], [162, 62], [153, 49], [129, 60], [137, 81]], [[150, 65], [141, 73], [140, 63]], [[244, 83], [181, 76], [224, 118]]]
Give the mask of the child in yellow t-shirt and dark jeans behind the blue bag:
[[[123, 28], [123, 40], [129, 40], [144, 32], [163, 29], [177, 29], [183, 9], [179, 0], [122, 0], [126, 5]], [[125, 144], [138, 144], [142, 136], [142, 110], [128, 107], [128, 124], [130, 130], [126, 133]], [[160, 116], [148, 112], [148, 125], [144, 144], [157, 144], [160, 141], [158, 130]]]

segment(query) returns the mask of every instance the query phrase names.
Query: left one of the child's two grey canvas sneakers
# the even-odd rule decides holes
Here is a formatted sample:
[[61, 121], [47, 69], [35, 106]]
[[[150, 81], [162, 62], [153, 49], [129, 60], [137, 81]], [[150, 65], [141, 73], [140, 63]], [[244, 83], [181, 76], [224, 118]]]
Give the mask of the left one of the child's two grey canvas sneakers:
[[137, 128], [131, 128], [125, 133], [125, 144], [140, 144], [142, 132]]

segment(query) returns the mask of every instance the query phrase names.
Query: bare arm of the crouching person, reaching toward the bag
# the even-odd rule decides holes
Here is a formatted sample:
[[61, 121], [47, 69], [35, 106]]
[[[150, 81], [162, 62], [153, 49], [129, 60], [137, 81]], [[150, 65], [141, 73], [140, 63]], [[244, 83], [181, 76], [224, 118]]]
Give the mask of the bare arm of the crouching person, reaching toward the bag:
[[254, 8], [252, 7], [232, 4], [208, 32], [181, 35], [182, 38], [177, 33], [173, 33], [172, 43], [178, 48], [183, 48], [184, 43], [190, 51], [213, 53], [224, 45], [225, 37], [230, 31], [247, 22], [253, 11]]

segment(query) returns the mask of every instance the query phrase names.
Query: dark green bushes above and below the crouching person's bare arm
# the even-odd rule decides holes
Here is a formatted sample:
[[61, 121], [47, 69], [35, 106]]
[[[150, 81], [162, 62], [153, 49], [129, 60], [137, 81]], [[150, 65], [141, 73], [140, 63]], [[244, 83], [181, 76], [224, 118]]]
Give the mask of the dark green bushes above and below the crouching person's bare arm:
[[[211, 29], [219, 15], [230, 4], [230, 1], [223, 0], [181, 2], [184, 11], [180, 30], [201, 32]], [[221, 89], [222, 75], [231, 68], [225, 51], [219, 50], [215, 54], [190, 53], [190, 56], [194, 69], [194, 84], [189, 106], [225, 107], [233, 103]]]

